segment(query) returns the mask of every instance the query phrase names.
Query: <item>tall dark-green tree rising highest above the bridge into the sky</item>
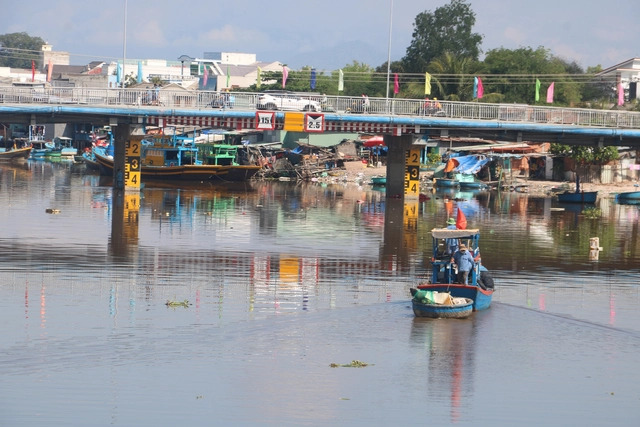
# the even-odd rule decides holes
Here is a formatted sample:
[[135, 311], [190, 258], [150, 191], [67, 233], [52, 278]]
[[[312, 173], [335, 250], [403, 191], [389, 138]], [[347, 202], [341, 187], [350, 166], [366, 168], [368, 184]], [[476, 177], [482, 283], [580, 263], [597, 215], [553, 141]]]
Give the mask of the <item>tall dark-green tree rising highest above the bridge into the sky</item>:
[[407, 72], [421, 73], [435, 58], [449, 52], [456, 57], [477, 60], [482, 36], [472, 32], [476, 15], [464, 0], [424, 11], [416, 16], [413, 39], [402, 59]]

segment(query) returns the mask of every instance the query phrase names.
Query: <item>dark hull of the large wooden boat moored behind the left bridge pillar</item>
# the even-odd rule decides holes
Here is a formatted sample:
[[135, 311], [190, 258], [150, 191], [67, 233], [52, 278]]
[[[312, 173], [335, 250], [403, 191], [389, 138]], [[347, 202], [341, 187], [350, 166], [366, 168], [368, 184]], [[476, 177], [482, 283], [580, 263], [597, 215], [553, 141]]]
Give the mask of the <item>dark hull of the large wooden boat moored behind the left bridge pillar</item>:
[[[113, 176], [113, 160], [95, 153], [96, 162], [100, 166], [100, 173]], [[180, 166], [149, 166], [140, 169], [142, 179], [171, 180], [171, 181], [247, 181], [258, 171], [260, 166], [254, 165], [180, 165]]]

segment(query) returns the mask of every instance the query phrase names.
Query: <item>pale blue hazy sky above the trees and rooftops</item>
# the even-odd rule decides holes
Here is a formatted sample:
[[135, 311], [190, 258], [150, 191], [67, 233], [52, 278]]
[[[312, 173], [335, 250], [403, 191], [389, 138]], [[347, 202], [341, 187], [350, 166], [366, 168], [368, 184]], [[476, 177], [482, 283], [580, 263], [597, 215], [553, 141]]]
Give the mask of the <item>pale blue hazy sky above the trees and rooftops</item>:
[[[405, 54], [413, 22], [446, 0], [393, 0], [391, 60]], [[640, 1], [469, 0], [482, 49], [543, 46], [584, 69], [640, 57]], [[126, 57], [176, 60], [204, 52], [256, 53], [335, 70], [353, 60], [376, 67], [387, 60], [391, 0], [127, 0]], [[74, 65], [123, 57], [125, 0], [12, 1], [0, 34], [27, 32]]]

